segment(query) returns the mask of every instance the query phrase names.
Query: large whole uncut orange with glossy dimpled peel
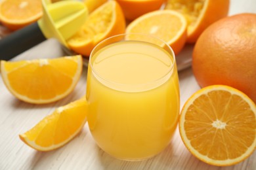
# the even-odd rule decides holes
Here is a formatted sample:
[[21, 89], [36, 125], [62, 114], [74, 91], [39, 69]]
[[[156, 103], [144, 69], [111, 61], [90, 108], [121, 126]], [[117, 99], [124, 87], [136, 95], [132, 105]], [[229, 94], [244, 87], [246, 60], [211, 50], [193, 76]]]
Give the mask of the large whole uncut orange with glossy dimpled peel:
[[200, 86], [232, 86], [256, 103], [256, 14], [228, 16], [207, 27], [194, 47], [192, 69]]

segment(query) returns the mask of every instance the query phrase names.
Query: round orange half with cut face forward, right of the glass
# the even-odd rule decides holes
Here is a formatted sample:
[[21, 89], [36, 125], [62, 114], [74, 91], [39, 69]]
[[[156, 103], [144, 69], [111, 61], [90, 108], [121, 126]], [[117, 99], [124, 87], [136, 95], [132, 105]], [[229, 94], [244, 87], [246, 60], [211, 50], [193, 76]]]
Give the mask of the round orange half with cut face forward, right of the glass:
[[256, 106], [234, 88], [208, 86], [184, 104], [179, 130], [198, 159], [211, 165], [234, 165], [255, 150]]

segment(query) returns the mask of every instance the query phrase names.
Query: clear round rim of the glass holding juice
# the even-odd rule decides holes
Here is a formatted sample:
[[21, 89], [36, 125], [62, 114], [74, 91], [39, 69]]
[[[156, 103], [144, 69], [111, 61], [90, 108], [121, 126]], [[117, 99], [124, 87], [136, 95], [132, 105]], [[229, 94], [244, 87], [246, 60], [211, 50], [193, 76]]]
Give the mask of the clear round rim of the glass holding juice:
[[[163, 48], [163, 50], [165, 50], [168, 54], [170, 54], [170, 56], [172, 56], [173, 58], [173, 61], [171, 63], [171, 66], [169, 67], [168, 71], [166, 71], [166, 73], [161, 76], [160, 78], [157, 78], [155, 80], [152, 80], [152, 81], [149, 81], [149, 82], [145, 82], [145, 83], [140, 83], [140, 84], [124, 84], [124, 83], [119, 83], [119, 82], [114, 82], [113, 80], [108, 80], [107, 78], [104, 78], [102, 75], [100, 75], [99, 73], [97, 73], [97, 71], [95, 71], [95, 69], [93, 68], [93, 63], [91, 63], [92, 61], [92, 58], [93, 58], [93, 55], [96, 54], [95, 50], [97, 50], [98, 46], [100, 46], [101, 44], [103, 44], [104, 42], [110, 40], [110, 39], [114, 39], [115, 37], [123, 37], [124, 39], [123, 40], [120, 40], [120, 41], [140, 41], [140, 40], [131, 40], [131, 39], [125, 39], [125, 37], [127, 35], [141, 35], [141, 36], [144, 36], [144, 37], [151, 37], [152, 39], [156, 39], [160, 42], [163, 42], [163, 44], [165, 44], [165, 46], [167, 46], [167, 48], [170, 50], [171, 54], [165, 50]], [[116, 41], [116, 42], [120, 42], [120, 41]], [[147, 41], [143, 41], [141, 40], [141, 42], [147, 42]], [[114, 42], [112, 42], [114, 43]], [[148, 42], [150, 44], [153, 44], [152, 42]], [[109, 44], [107, 44], [106, 46], [108, 46]], [[159, 46], [158, 44], [155, 44], [157, 46]], [[159, 46], [161, 47], [161, 46]], [[161, 47], [162, 48], [162, 47]], [[175, 53], [173, 51], [173, 48], [171, 48], [171, 46], [169, 44], [167, 44], [167, 42], [163, 41], [162, 39], [158, 38], [158, 37], [155, 37], [154, 35], [150, 35], [150, 34], [145, 34], [145, 33], [121, 33], [121, 34], [117, 34], [117, 35], [114, 35], [114, 36], [111, 36], [111, 37], [108, 37], [100, 42], [98, 42], [98, 44], [96, 44], [96, 46], [93, 48], [93, 50], [91, 51], [91, 54], [90, 54], [90, 57], [89, 57], [89, 65], [91, 67], [91, 70], [92, 72], [98, 76], [99, 78], [101, 78], [102, 80], [106, 81], [106, 82], [110, 82], [112, 84], [119, 84], [119, 85], [123, 85], [123, 86], [139, 86], [139, 85], [144, 85], [144, 84], [150, 84], [152, 82], [158, 82], [160, 81], [161, 79], [165, 78], [165, 76], [167, 76], [169, 73], [171, 73], [175, 67], [175, 64], [176, 64], [176, 58], [175, 58]]]

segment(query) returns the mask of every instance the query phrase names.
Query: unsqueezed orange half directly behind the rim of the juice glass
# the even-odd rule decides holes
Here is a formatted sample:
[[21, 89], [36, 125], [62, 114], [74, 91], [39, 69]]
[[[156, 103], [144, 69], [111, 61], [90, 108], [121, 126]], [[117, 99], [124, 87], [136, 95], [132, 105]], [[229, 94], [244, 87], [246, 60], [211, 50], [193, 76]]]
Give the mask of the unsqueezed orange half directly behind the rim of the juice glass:
[[156, 10], [133, 20], [126, 33], [146, 33], [160, 38], [178, 54], [186, 42], [186, 19], [174, 10]]

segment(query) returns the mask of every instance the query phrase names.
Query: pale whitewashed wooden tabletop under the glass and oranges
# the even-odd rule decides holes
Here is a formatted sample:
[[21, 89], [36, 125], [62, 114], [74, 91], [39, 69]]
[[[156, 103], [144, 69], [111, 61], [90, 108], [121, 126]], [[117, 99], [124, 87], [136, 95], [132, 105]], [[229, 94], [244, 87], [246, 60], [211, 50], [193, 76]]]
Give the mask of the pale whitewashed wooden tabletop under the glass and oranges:
[[[255, 0], [230, 0], [230, 15], [241, 12], [256, 13]], [[60, 44], [49, 39], [13, 60], [56, 58], [65, 56]], [[0, 170], [2, 169], [256, 169], [256, 152], [245, 161], [230, 167], [215, 167], [198, 160], [184, 146], [179, 130], [170, 144], [154, 158], [144, 161], [122, 161], [112, 158], [98, 146], [86, 124], [81, 133], [70, 143], [51, 152], [33, 150], [18, 134], [24, 133], [54, 109], [85, 95], [87, 67], [74, 92], [68, 97], [47, 105], [32, 105], [11, 95], [0, 78]], [[200, 89], [191, 67], [179, 71], [181, 107], [192, 93]]]

